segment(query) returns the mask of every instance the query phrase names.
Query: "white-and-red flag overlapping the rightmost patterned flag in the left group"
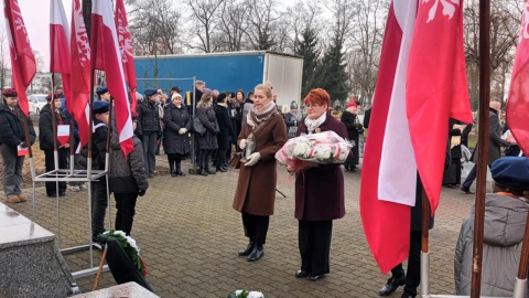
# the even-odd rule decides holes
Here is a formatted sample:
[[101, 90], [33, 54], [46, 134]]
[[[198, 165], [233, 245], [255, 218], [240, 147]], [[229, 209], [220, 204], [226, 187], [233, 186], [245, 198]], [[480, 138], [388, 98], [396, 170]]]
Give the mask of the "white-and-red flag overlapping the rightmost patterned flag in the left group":
[[107, 88], [115, 100], [116, 125], [125, 156], [134, 149], [130, 106], [127, 100], [123, 66], [119, 51], [118, 34], [112, 19], [112, 2], [95, 0], [91, 6], [90, 49], [91, 65], [106, 72]]

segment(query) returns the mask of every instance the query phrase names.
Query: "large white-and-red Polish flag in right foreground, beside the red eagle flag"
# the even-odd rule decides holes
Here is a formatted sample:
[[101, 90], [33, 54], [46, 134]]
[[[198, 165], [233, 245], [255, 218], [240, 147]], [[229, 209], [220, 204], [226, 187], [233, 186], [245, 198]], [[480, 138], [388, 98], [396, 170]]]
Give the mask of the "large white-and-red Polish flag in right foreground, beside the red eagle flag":
[[[406, 73], [417, 1], [392, 1], [373, 100], [360, 184], [360, 216], [382, 273], [408, 257], [417, 168], [406, 118]], [[390, 247], [390, 248], [388, 248]]]

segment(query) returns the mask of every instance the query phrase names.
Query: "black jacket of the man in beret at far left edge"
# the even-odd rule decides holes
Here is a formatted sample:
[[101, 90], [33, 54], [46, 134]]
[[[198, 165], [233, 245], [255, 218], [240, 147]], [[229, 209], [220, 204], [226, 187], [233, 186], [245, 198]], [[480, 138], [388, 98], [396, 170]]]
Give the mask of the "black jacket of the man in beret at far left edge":
[[6, 143], [9, 147], [17, 147], [21, 142], [25, 142], [25, 132], [22, 119], [26, 118], [28, 129], [30, 131], [30, 141], [31, 145], [33, 145], [36, 139], [33, 121], [18, 107], [15, 108], [15, 114], [12, 113], [6, 104], [0, 104], [0, 143]]

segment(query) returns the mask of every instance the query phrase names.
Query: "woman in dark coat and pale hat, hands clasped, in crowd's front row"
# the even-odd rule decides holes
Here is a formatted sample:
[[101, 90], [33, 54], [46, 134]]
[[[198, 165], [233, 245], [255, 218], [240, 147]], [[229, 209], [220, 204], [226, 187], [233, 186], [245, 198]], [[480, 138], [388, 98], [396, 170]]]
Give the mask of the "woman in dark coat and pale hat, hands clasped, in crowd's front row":
[[171, 175], [185, 175], [182, 172], [182, 159], [191, 151], [190, 134], [191, 117], [182, 105], [182, 95], [175, 93], [171, 103], [163, 109], [163, 150], [168, 155]]

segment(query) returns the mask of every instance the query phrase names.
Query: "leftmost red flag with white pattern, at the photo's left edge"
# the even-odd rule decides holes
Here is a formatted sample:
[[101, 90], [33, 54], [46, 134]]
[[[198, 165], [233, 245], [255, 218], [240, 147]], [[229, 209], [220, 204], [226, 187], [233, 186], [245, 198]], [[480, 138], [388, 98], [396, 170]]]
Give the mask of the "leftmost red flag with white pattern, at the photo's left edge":
[[19, 96], [19, 106], [29, 116], [30, 105], [25, 91], [36, 73], [35, 56], [31, 50], [18, 0], [3, 0], [3, 13], [11, 56], [11, 79]]

